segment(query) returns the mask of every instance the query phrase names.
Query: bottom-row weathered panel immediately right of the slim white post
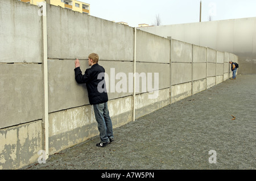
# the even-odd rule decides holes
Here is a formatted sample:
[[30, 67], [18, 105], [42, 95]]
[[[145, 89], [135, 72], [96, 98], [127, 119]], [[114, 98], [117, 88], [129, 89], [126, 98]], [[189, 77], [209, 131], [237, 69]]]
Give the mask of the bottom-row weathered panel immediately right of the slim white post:
[[[136, 95], [135, 119], [170, 104], [170, 89], [146, 92]], [[154, 99], [151, 99], [154, 96]]]

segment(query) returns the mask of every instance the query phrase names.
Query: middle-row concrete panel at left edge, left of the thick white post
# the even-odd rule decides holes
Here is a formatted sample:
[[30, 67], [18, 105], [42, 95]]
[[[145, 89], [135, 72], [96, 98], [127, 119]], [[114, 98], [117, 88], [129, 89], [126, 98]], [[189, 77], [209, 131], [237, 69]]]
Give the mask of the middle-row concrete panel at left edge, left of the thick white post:
[[42, 119], [42, 64], [0, 64], [0, 128]]

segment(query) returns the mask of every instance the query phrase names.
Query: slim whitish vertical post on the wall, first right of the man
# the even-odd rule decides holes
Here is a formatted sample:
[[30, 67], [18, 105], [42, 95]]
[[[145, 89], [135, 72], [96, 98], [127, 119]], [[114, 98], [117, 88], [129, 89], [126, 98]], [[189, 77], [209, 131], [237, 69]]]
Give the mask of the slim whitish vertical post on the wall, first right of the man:
[[134, 27], [134, 64], [133, 64], [133, 121], [135, 121], [135, 98], [136, 98], [136, 27]]

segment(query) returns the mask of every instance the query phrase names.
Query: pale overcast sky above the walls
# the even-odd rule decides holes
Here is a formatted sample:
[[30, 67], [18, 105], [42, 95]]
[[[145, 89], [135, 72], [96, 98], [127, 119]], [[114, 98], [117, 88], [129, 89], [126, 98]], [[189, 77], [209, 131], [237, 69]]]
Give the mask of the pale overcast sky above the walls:
[[[161, 25], [199, 22], [200, 0], [80, 0], [90, 4], [90, 15], [131, 27], [155, 23]], [[201, 21], [256, 17], [255, 0], [202, 0]]]

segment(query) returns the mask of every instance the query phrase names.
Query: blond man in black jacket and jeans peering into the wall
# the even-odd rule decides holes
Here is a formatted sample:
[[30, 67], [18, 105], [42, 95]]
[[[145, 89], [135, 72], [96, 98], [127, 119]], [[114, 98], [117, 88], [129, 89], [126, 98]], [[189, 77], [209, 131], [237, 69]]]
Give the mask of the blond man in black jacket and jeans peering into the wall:
[[[100, 132], [101, 142], [96, 146], [104, 147], [114, 141], [112, 120], [108, 110], [108, 93], [106, 87], [104, 87], [106, 85], [105, 69], [98, 65], [98, 54], [91, 53], [88, 58], [88, 64], [91, 68], [86, 69], [84, 75], [80, 70], [79, 60], [75, 60], [75, 79], [77, 83], [86, 83], [89, 103], [93, 105], [98, 131]], [[99, 74], [101, 79], [98, 79]], [[103, 86], [98, 86], [99, 83]]]

